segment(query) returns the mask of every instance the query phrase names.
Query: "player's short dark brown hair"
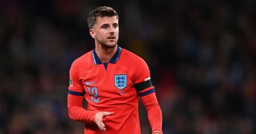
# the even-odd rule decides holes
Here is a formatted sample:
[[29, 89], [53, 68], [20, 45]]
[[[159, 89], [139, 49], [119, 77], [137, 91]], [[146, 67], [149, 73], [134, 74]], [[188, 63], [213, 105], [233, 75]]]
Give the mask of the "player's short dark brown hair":
[[96, 9], [92, 10], [87, 18], [87, 24], [89, 28], [93, 28], [98, 17], [112, 17], [116, 16], [118, 18], [117, 12], [110, 6], [98, 6]]

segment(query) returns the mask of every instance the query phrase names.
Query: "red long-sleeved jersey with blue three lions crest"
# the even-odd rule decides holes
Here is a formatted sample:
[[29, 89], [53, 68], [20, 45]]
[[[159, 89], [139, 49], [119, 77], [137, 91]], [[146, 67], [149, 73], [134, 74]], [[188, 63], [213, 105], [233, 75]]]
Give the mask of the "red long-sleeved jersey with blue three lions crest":
[[[146, 62], [141, 57], [119, 46], [117, 52], [107, 63], [102, 63], [96, 51], [92, 50], [82, 57], [78, 57], [71, 65], [69, 114], [70, 117], [74, 115], [74, 120], [86, 123], [84, 130], [86, 134], [141, 133], [138, 99], [139, 97], [146, 98], [146, 96], [151, 96], [151, 98], [144, 99], [146, 102], [155, 97], [154, 86], [150, 81], [150, 70]], [[76, 105], [75, 101], [78, 101], [78, 106], [82, 107], [82, 97], [86, 99], [86, 109], [77, 107], [76, 110], [71, 110], [71, 107]], [[159, 112], [157, 101], [154, 103], [149, 101], [149, 107], [150, 104], [155, 104]], [[110, 116], [103, 117], [106, 132], [102, 132], [94, 123], [94, 115], [98, 111], [114, 112]], [[161, 110], [159, 114], [151, 113], [151, 118], [158, 116], [158, 118], [161, 117], [161, 120], [152, 124], [153, 121], [151, 121], [150, 124], [152, 130], [162, 132]]]

